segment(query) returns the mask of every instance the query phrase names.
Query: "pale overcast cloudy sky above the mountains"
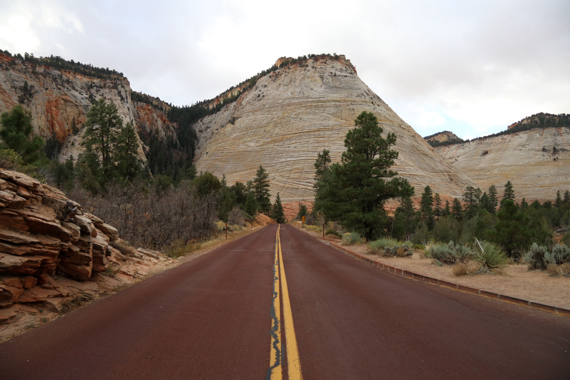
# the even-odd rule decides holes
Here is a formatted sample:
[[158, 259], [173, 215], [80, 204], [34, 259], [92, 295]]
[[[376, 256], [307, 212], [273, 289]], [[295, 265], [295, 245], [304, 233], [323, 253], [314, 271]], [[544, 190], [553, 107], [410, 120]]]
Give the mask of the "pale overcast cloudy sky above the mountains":
[[280, 56], [344, 54], [422, 136], [468, 139], [570, 113], [570, 1], [6, 1], [0, 48], [209, 99]]

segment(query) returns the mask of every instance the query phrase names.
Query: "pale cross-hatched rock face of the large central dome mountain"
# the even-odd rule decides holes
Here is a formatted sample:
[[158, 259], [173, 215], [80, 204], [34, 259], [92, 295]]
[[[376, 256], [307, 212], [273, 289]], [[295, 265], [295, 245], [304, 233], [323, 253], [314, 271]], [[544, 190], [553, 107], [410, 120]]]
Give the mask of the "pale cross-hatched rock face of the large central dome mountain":
[[[400, 152], [393, 169], [416, 191], [460, 196], [474, 183], [442, 159], [356, 74], [343, 55], [290, 64], [260, 78], [239, 99], [194, 124], [196, 167], [226, 175], [228, 183], [247, 181], [263, 165], [271, 193], [283, 202], [312, 200], [317, 153], [340, 160], [344, 138], [362, 111], [373, 112], [386, 132], [397, 135]], [[419, 192], [417, 193], [419, 194]]]

